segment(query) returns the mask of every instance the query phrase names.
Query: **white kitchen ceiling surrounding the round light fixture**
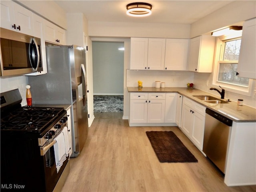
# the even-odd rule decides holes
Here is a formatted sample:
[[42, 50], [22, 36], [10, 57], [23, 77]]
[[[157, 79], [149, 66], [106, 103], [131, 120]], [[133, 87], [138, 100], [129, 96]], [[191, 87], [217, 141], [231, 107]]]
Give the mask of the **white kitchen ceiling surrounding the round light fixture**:
[[[192, 24], [233, 2], [228, 0], [56, 0], [67, 13], [84, 13], [88, 22], [142, 22]], [[126, 15], [132, 2], [152, 4], [152, 14], [134, 18]]]

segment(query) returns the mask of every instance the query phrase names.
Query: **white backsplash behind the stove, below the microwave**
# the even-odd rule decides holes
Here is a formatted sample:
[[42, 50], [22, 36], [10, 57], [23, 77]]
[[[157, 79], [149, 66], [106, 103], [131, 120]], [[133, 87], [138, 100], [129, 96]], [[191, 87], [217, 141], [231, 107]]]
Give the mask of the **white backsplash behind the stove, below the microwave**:
[[[26, 85], [28, 84], [28, 78], [26, 76], [17, 76], [10, 78], [0, 78], [0, 92], [6, 92], [14, 89], [19, 89], [22, 96], [21, 105], [24, 106], [26, 102]], [[33, 97], [33, 96], [32, 96]]]

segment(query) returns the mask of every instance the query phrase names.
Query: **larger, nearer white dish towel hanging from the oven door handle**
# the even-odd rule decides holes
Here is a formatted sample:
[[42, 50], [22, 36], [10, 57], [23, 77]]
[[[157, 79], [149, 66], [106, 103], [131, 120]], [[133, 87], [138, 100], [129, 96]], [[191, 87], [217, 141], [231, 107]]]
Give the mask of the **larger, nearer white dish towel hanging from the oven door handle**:
[[66, 147], [63, 131], [54, 140], [56, 140], [56, 143], [54, 144], [54, 155], [58, 173], [63, 162], [66, 160]]

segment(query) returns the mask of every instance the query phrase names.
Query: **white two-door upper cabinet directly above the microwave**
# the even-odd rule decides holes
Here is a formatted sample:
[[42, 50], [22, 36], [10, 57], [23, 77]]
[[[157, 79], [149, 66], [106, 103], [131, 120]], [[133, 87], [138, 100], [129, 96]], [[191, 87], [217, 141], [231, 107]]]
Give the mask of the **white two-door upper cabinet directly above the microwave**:
[[1, 27], [34, 36], [33, 13], [13, 1], [1, 1]]

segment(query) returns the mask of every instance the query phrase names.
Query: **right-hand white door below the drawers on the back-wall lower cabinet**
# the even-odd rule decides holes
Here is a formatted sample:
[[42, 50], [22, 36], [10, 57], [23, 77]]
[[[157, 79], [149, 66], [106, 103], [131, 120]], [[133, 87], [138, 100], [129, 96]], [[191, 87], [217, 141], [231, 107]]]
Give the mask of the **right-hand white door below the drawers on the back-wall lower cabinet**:
[[148, 100], [148, 123], [163, 123], [165, 100]]

